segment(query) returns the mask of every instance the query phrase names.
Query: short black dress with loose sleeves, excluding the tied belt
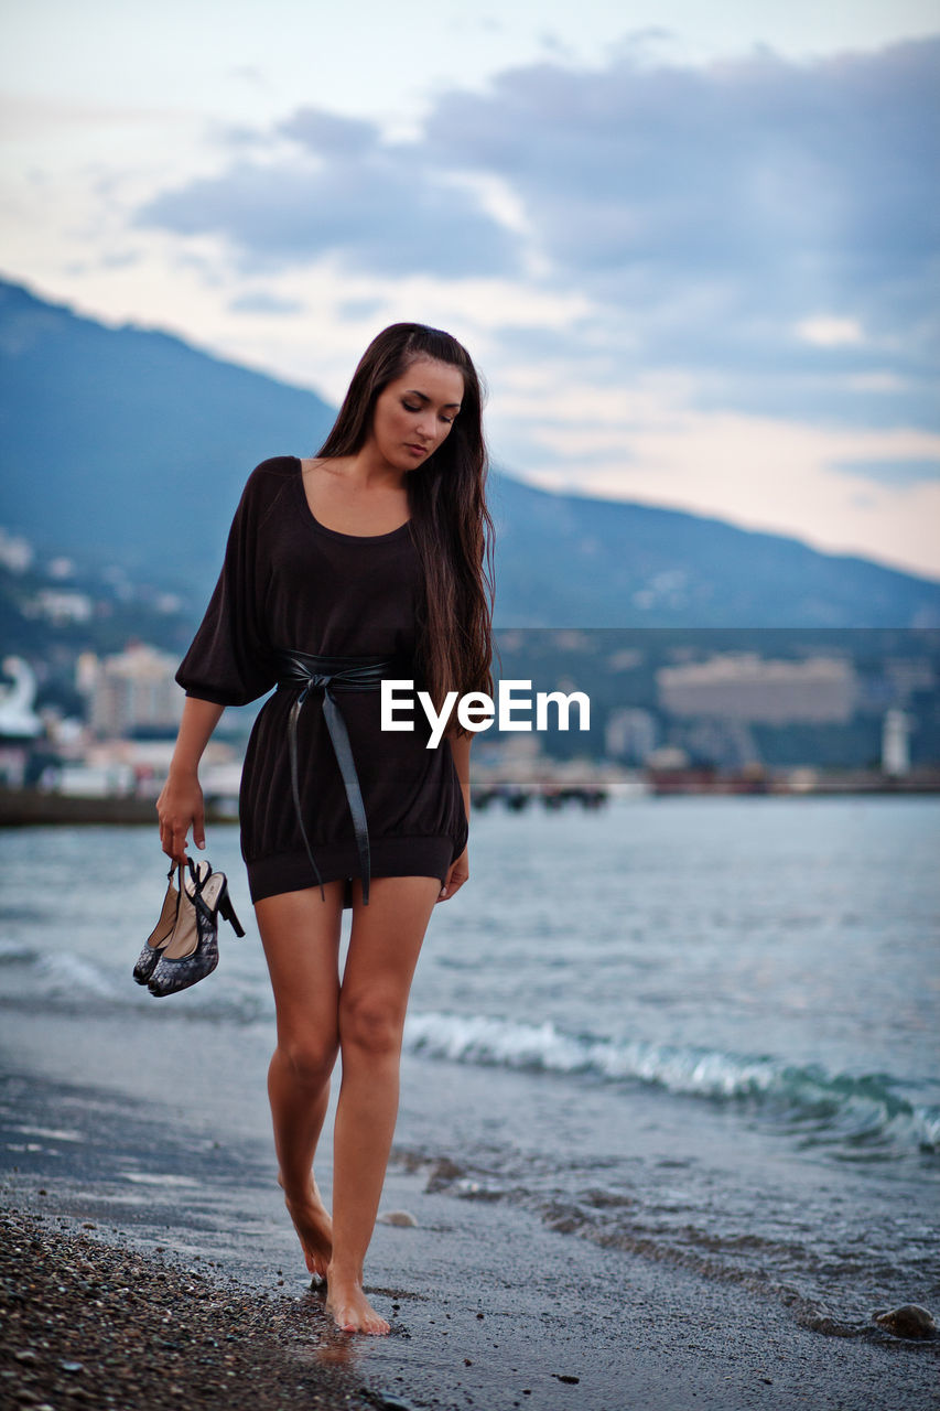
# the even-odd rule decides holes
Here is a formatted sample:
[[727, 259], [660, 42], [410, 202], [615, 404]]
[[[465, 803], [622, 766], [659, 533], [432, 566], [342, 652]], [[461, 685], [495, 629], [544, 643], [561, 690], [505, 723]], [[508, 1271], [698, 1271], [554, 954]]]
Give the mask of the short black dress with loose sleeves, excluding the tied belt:
[[[231, 523], [224, 563], [176, 682], [186, 696], [244, 706], [278, 682], [278, 649], [320, 656], [414, 662], [425, 583], [406, 522], [391, 533], [349, 535], [319, 523], [296, 456], [251, 471]], [[405, 676], [404, 679], [408, 679]], [[415, 669], [415, 693], [423, 683]], [[241, 855], [251, 900], [316, 886], [291, 787], [288, 717], [295, 689], [277, 690], [251, 729], [241, 775]], [[443, 883], [467, 844], [460, 779], [443, 738], [415, 694], [414, 731], [381, 729], [381, 693], [344, 691], [346, 722], [366, 806], [371, 876], [433, 876]], [[346, 787], [312, 693], [298, 717], [303, 825], [323, 882], [361, 876]]]

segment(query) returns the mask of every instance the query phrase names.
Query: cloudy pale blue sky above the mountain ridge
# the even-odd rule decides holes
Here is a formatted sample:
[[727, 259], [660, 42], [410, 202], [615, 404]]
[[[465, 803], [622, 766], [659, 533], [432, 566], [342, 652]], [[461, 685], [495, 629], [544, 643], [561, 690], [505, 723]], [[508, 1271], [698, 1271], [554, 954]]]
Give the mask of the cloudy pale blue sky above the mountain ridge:
[[446, 327], [518, 478], [940, 579], [940, 0], [0, 23], [4, 278], [335, 402]]

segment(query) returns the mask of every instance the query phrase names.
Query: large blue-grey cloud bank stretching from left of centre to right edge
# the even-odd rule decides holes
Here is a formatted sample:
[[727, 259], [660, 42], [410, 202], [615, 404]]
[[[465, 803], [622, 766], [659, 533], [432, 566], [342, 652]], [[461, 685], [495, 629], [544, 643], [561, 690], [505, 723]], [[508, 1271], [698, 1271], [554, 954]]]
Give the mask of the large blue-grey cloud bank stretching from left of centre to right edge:
[[502, 367], [567, 357], [600, 388], [680, 371], [703, 413], [936, 426], [940, 38], [700, 68], [642, 49], [445, 90], [406, 140], [299, 109], [137, 220], [222, 237], [241, 274], [423, 278], [454, 306], [486, 286], [473, 317]]

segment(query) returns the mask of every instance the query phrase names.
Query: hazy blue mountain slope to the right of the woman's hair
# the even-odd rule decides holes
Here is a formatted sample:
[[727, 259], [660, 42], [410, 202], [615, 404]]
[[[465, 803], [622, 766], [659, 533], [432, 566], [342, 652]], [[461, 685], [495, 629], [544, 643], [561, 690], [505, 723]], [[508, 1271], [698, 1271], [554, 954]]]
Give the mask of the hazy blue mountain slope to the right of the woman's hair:
[[867, 559], [508, 476], [491, 498], [507, 625], [940, 626], [940, 584]]

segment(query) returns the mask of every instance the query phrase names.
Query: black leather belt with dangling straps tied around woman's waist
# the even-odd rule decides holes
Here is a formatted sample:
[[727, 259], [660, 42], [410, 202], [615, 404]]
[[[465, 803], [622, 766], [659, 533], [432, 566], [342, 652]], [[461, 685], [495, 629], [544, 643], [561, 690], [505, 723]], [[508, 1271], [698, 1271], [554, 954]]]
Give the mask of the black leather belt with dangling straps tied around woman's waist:
[[323, 691], [323, 717], [333, 744], [333, 753], [336, 755], [336, 762], [343, 776], [349, 811], [353, 816], [356, 845], [358, 848], [358, 861], [363, 873], [363, 902], [368, 904], [370, 855], [366, 806], [358, 787], [358, 775], [356, 773], [356, 762], [349, 742], [346, 721], [343, 720], [339, 704], [333, 698], [333, 693], [378, 690], [382, 679], [387, 676], [392, 679], [395, 676], [408, 679], [409, 669], [401, 660], [385, 656], [308, 656], [305, 652], [277, 652], [275, 663], [278, 669], [278, 689], [296, 690], [299, 687], [298, 697], [291, 706], [291, 715], [288, 718], [291, 789], [294, 790], [294, 807], [296, 810], [296, 821], [301, 828], [301, 837], [303, 838], [303, 847], [306, 848], [306, 855], [311, 859], [311, 866], [313, 868], [320, 896], [326, 900], [326, 892], [323, 890], [319, 868], [313, 861], [311, 842], [306, 837], [306, 828], [303, 827], [296, 763], [298, 715], [301, 714], [301, 708], [311, 691], [319, 689]]

